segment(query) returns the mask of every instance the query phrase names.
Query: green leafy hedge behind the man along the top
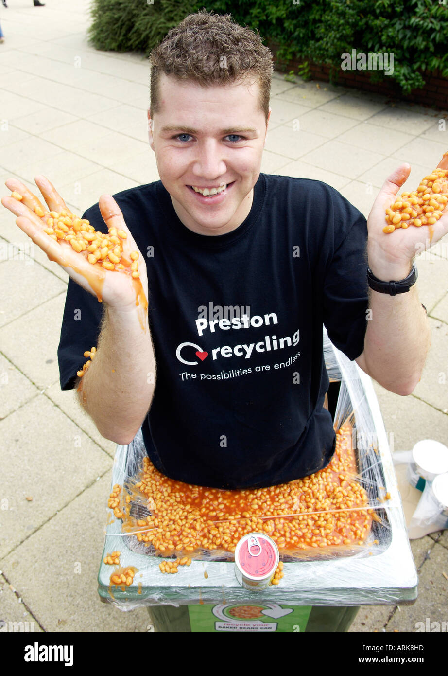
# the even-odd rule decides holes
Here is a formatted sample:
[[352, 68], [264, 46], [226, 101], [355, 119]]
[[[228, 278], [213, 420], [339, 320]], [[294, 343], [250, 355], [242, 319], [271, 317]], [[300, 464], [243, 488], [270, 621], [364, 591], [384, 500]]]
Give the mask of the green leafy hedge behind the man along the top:
[[404, 94], [423, 87], [425, 74], [448, 77], [448, 0], [93, 0], [91, 41], [97, 49], [149, 54], [186, 14], [203, 7], [258, 28], [265, 43], [280, 45], [279, 59], [331, 66], [334, 80], [341, 55], [352, 49], [393, 53], [393, 74], [371, 76], [396, 80]]

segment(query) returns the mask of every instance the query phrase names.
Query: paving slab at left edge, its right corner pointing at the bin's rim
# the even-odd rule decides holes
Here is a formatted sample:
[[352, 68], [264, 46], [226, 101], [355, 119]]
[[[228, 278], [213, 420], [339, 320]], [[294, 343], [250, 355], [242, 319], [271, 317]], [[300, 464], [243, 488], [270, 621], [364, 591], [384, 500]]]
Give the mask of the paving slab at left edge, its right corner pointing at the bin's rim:
[[111, 458], [43, 395], [1, 420], [0, 429], [3, 557], [102, 476]]

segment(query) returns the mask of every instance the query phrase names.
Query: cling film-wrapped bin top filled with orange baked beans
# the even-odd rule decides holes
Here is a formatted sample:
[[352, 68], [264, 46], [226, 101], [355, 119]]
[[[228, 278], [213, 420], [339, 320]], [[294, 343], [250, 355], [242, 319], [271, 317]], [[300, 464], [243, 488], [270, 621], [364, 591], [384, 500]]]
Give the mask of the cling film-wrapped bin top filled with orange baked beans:
[[[99, 571], [102, 600], [121, 610], [260, 600], [296, 606], [416, 600], [416, 568], [372, 383], [325, 331], [324, 358], [330, 381], [340, 382], [337, 450], [326, 468], [275, 487], [277, 493], [167, 479], [149, 462], [141, 431], [117, 446]], [[226, 505], [236, 496], [241, 502], [230, 511]], [[171, 519], [164, 513], [170, 504], [177, 508]], [[276, 541], [283, 562], [281, 579], [262, 591], [248, 591], [234, 575], [234, 546], [254, 531]]]

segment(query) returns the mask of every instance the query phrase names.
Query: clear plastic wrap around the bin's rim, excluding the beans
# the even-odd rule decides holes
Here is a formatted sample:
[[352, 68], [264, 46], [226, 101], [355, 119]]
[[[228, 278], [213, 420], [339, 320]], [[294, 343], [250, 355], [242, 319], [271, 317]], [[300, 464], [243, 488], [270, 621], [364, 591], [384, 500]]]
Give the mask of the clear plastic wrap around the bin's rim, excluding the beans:
[[[120, 552], [120, 570], [131, 567], [132, 584], [111, 583], [114, 568], [101, 562], [99, 595], [121, 610], [147, 605], [193, 605], [232, 603], [289, 603], [294, 606], [356, 606], [405, 604], [417, 598], [417, 572], [397, 489], [393, 460], [378, 401], [370, 378], [330, 343], [324, 331], [324, 358], [330, 381], [340, 381], [334, 428], [347, 420], [353, 427], [357, 480], [374, 510], [371, 532], [362, 546], [332, 547], [299, 551], [282, 556], [284, 577], [263, 592], [251, 592], [239, 585], [234, 575], [231, 552], [211, 555], [195, 553], [189, 566], [179, 566], [176, 575], [161, 573], [157, 556], [132, 534], [123, 532], [120, 518], [106, 526], [103, 558]], [[132, 487], [146, 452], [139, 432], [126, 446], [117, 446], [112, 486]], [[144, 504], [134, 505], [148, 513]], [[132, 512], [131, 512], [132, 514]], [[114, 514], [109, 514], [113, 517]], [[294, 518], [294, 517], [292, 517]], [[219, 554], [219, 555], [218, 555]], [[175, 558], [175, 557], [174, 557]]]

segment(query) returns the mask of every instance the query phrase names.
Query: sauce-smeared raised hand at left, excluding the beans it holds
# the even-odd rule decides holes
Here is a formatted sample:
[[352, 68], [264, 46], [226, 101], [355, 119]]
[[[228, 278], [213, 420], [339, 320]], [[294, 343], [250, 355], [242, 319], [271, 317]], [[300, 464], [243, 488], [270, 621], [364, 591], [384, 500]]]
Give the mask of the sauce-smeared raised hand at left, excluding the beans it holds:
[[[53, 260], [64, 268], [70, 277], [76, 281], [83, 289], [93, 293], [98, 299], [103, 299], [111, 308], [120, 312], [134, 310], [136, 305], [147, 309], [147, 272], [145, 259], [139, 252], [139, 273], [140, 281], [143, 287], [143, 301], [139, 299], [139, 281], [132, 279], [130, 270], [106, 270], [100, 263], [91, 264], [84, 251], [77, 253], [70, 243], [66, 241], [55, 241], [51, 239], [44, 228], [47, 228], [45, 218], [39, 218], [34, 212], [36, 207], [45, 211], [61, 212], [65, 210], [71, 214], [66, 206], [64, 199], [57, 193], [55, 187], [44, 176], [36, 176], [34, 179], [39, 187], [47, 207], [45, 208], [36, 195], [17, 180], [9, 178], [5, 185], [11, 190], [20, 193], [23, 199], [19, 201], [14, 197], [3, 197], [1, 200], [3, 206], [16, 214], [16, 224], [21, 228], [32, 241], [38, 245], [47, 254], [50, 260]], [[107, 225], [107, 228], [115, 227], [122, 230], [127, 237], [122, 241], [124, 258], [129, 258], [131, 251], [139, 251], [130, 234], [123, 214], [111, 195], [102, 195], [99, 199], [99, 208], [101, 216]]]

